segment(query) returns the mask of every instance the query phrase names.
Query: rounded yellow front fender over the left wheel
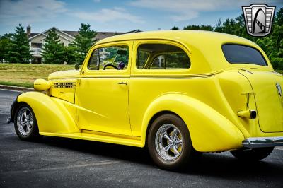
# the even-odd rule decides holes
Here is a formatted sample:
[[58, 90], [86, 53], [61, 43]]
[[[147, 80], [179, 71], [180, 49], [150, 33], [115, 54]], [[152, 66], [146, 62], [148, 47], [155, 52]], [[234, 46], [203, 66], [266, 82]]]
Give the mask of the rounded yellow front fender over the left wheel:
[[40, 132], [80, 132], [74, 120], [76, 107], [71, 103], [33, 91], [18, 95], [17, 100], [18, 103], [27, 103], [33, 109]]

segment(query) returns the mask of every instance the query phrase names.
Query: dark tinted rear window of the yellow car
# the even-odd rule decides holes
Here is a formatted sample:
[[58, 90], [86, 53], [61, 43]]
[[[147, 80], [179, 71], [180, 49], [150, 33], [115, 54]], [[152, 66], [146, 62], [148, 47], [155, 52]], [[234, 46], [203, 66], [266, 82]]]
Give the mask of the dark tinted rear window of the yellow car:
[[262, 54], [253, 47], [243, 45], [222, 45], [222, 51], [230, 64], [257, 64], [267, 66]]

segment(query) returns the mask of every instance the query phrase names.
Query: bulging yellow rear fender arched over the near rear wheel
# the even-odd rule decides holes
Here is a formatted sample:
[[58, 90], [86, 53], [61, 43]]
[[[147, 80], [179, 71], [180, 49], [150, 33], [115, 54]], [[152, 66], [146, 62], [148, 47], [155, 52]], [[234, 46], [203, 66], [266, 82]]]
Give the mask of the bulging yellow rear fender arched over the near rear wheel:
[[142, 122], [143, 138], [151, 117], [162, 111], [174, 112], [183, 119], [197, 151], [227, 151], [242, 146], [244, 136], [234, 124], [212, 107], [183, 93], [167, 93], [151, 102]]

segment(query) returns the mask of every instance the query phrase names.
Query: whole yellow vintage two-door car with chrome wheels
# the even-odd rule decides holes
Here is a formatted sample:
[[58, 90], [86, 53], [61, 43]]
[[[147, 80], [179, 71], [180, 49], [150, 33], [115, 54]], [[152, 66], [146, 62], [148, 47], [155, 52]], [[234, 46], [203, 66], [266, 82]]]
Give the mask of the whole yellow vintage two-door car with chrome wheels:
[[36, 80], [8, 121], [25, 141], [44, 135], [147, 147], [164, 169], [204, 152], [261, 160], [283, 146], [282, 86], [265, 52], [241, 37], [132, 33], [97, 42], [81, 69]]

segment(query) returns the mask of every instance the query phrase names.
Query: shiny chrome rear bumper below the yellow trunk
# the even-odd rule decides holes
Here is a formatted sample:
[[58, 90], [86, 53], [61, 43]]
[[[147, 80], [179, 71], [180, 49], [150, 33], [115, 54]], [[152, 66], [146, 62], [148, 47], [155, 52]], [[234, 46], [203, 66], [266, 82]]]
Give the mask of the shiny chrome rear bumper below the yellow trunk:
[[245, 148], [266, 148], [283, 146], [283, 136], [277, 137], [250, 137], [243, 141]]

